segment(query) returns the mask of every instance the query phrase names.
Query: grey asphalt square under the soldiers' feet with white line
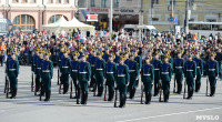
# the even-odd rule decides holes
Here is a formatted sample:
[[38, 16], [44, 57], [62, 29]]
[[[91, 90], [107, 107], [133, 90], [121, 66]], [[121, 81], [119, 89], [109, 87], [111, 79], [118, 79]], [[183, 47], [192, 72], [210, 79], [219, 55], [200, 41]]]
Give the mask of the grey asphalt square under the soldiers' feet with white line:
[[184, 100], [183, 94], [172, 93], [172, 79], [169, 103], [160, 103], [159, 96], [154, 96], [149, 105], [140, 104], [141, 85], [139, 85], [134, 100], [128, 99], [125, 108], [119, 109], [113, 108], [114, 102], [103, 101], [103, 96], [93, 96], [92, 92], [89, 93], [87, 105], [77, 104], [75, 99], [70, 99], [70, 94], [59, 94], [57, 68], [54, 68], [50, 102], [39, 101], [39, 96], [34, 96], [31, 92], [30, 67], [20, 67], [17, 99], [6, 99], [3, 94], [4, 67], [0, 68], [0, 122], [222, 121], [222, 81], [219, 80], [215, 96], [205, 96], [206, 78], [202, 78], [200, 92], [194, 93], [192, 100]]

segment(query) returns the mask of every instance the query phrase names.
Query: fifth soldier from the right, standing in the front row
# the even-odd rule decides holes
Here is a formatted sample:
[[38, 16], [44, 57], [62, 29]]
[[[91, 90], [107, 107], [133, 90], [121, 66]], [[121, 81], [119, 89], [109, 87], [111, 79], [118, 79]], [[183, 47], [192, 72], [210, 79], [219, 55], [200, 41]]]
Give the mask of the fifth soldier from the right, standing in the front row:
[[161, 69], [160, 69], [164, 102], [169, 101], [170, 81], [172, 78], [172, 67], [169, 63], [169, 58], [170, 58], [170, 54], [167, 54], [164, 57], [164, 61], [161, 64]]

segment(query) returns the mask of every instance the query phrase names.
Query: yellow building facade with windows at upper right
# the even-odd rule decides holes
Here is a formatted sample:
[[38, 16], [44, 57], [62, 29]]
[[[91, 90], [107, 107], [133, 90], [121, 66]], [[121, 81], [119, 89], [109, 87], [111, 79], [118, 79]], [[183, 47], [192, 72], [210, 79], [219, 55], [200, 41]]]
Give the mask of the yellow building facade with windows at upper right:
[[[222, 22], [221, 0], [189, 1], [189, 10], [191, 10], [189, 21]], [[173, 0], [173, 2], [172, 0], [142, 0], [141, 2], [144, 24], [153, 24], [159, 31], [170, 30], [171, 24], [184, 26], [185, 0]], [[172, 3], [175, 20], [169, 22]]]

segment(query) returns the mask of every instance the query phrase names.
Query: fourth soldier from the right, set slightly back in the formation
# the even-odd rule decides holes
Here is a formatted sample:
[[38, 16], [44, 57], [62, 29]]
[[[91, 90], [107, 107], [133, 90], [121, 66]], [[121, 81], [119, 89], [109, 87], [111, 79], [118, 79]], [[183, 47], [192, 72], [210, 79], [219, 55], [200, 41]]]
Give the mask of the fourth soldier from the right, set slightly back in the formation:
[[181, 94], [182, 92], [182, 82], [183, 82], [183, 71], [184, 71], [184, 60], [181, 58], [183, 51], [178, 52], [178, 58], [174, 60], [173, 69], [175, 73], [175, 81], [176, 81], [176, 87], [178, 87], [178, 94]]

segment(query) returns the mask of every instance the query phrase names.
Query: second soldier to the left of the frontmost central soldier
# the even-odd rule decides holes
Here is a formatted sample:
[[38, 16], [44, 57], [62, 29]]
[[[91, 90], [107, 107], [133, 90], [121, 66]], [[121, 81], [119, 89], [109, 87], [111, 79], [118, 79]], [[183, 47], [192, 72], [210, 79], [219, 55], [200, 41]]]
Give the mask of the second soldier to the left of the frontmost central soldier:
[[102, 52], [98, 52], [98, 59], [95, 61], [94, 73], [98, 87], [97, 96], [102, 96], [103, 83], [104, 83], [104, 73], [105, 73], [105, 61], [102, 59]]

